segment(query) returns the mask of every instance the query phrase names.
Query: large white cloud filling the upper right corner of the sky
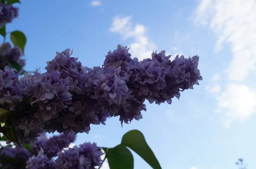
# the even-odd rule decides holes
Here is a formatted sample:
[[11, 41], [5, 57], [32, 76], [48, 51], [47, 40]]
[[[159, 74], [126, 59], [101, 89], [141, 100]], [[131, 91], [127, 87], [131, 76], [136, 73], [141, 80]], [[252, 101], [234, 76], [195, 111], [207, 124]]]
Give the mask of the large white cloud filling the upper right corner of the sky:
[[221, 50], [223, 42], [230, 43], [230, 80], [243, 81], [256, 69], [255, 18], [255, 0], [200, 0], [195, 11], [195, 21], [209, 25], [217, 35], [215, 51]]

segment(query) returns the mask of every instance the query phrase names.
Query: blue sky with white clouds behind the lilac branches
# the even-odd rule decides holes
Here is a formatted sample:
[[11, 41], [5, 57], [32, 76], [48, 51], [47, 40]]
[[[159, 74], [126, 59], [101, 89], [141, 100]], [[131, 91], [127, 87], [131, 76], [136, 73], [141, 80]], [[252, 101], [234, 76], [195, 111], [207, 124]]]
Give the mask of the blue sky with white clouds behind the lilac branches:
[[[101, 66], [121, 44], [132, 56], [153, 50], [200, 56], [204, 78], [180, 101], [147, 103], [143, 119], [91, 126], [75, 144], [113, 147], [133, 129], [145, 135], [163, 169], [236, 169], [237, 158], [256, 168], [256, 2], [254, 0], [21, 0], [8, 31], [26, 34], [26, 70], [41, 68], [56, 51], [73, 48], [84, 66]], [[9, 39], [7, 39], [9, 40]], [[135, 169], [150, 166], [134, 154]], [[104, 166], [107, 169], [107, 164]]]

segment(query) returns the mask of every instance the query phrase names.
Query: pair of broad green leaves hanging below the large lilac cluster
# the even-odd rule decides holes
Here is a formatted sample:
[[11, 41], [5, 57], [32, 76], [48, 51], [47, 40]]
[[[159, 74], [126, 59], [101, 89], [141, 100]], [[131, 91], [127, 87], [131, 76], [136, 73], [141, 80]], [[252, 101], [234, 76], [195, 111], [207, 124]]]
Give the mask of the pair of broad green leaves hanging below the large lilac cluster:
[[122, 137], [121, 144], [114, 148], [102, 147], [106, 153], [105, 159], [108, 159], [110, 169], [134, 168], [134, 158], [127, 147], [140, 155], [153, 169], [161, 169], [154, 152], [148, 146], [142, 132], [139, 130], [131, 130], [125, 133]]

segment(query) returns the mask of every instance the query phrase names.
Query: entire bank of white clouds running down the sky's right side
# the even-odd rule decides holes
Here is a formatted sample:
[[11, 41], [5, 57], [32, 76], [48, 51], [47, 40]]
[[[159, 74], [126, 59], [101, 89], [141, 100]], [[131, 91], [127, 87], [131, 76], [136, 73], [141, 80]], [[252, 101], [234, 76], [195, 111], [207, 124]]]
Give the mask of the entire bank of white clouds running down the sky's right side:
[[[256, 110], [256, 93], [244, 80], [256, 70], [256, 1], [255, 0], [200, 0], [195, 10], [196, 23], [207, 25], [216, 34], [215, 52], [223, 43], [230, 44], [233, 58], [227, 67], [227, 85], [207, 87], [216, 96], [218, 113], [224, 125], [233, 120], [245, 121]], [[219, 75], [213, 77], [219, 79]]]

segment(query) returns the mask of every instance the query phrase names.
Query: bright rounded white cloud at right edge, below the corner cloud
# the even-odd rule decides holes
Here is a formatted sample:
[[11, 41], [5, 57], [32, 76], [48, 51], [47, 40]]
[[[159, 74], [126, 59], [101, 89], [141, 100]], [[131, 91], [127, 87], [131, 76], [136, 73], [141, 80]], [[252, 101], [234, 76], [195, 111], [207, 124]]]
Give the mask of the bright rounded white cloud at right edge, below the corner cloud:
[[227, 84], [217, 97], [218, 113], [225, 113], [224, 125], [233, 120], [246, 121], [256, 111], [256, 92], [244, 84]]

